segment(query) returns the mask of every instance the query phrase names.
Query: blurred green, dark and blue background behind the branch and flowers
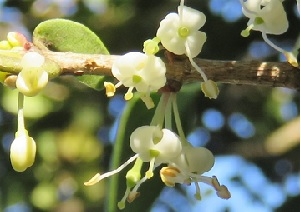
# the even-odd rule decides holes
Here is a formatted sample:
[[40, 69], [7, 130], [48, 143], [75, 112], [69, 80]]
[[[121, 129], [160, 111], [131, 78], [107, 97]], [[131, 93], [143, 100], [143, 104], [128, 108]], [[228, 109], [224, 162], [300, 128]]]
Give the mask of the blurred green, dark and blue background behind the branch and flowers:
[[[111, 54], [141, 51], [143, 42], [155, 36], [160, 20], [176, 11], [178, 4], [175, 0], [0, 0], [0, 40], [9, 31], [31, 39], [40, 22], [60, 17], [88, 26]], [[296, 1], [283, 4], [289, 30], [270, 38], [290, 50], [299, 37], [299, 13]], [[259, 32], [240, 36], [247, 19], [239, 0], [187, 0], [186, 5], [207, 16], [201, 29], [207, 42], [199, 57], [284, 60], [262, 42]], [[142, 185], [141, 196], [126, 211], [300, 210], [299, 91], [226, 84], [219, 88], [218, 99], [209, 100], [199, 84], [185, 85], [179, 107], [188, 140], [216, 156], [207, 175], [217, 175], [232, 198], [219, 199], [210, 187], [200, 185], [203, 199], [196, 201], [192, 186], [164, 188], [157, 174]], [[0, 211], [114, 210], [108, 209], [109, 200], [122, 197], [125, 170], [92, 187], [83, 182], [96, 172], [111, 170], [117, 156], [123, 162], [133, 155], [128, 136], [135, 127], [149, 123], [154, 110], [147, 111], [136, 100], [126, 104], [122, 94], [108, 99], [72, 77], [56, 79], [40, 95], [25, 100], [25, 122], [38, 150], [33, 167], [16, 173], [9, 147], [17, 127], [17, 92], [1, 86], [0, 99]]]

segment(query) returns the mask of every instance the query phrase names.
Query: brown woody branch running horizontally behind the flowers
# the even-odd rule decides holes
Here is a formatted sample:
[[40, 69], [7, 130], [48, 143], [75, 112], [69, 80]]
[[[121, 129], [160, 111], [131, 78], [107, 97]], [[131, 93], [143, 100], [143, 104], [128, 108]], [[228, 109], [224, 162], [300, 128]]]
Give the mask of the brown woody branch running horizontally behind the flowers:
[[[94, 55], [72, 52], [40, 52], [50, 61], [57, 64], [58, 70], [51, 72], [51, 76], [63, 74], [72, 75], [105, 75], [112, 76], [111, 68], [118, 55]], [[24, 54], [20, 51], [19, 54]], [[14, 67], [5, 64], [0, 52], [0, 70], [11, 73], [20, 71], [20, 65], [14, 61]], [[18, 57], [10, 58], [14, 60]], [[194, 70], [186, 57], [177, 56], [170, 59], [163, 58], [167, 73], [166, 77], [174, 89], [179, 89], [181, 84], [202, 81], [201, 75]], [[20, 59], [20, 58], [19, 58]], [[295, 68], [286, 62], [261, 62], [261, 61], [217, 61], [194, 59], [206, 73], [208, 79], [220, 83], [248, 84], [255, 86], [287, 87], [299, 89], [300, 68]], [[52, 61], [52, 62], [51, 62]]]

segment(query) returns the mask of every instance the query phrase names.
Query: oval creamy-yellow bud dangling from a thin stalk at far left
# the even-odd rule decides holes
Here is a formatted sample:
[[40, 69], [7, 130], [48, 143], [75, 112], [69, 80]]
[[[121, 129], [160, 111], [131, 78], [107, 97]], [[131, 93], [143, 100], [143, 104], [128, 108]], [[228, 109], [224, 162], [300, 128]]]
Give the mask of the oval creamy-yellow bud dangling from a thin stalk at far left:
[[10, 160], [15, 171], [23, 172], [31, 167], [36, 155], [36, 143], [27, 130], [16, 132], [10, 147]]

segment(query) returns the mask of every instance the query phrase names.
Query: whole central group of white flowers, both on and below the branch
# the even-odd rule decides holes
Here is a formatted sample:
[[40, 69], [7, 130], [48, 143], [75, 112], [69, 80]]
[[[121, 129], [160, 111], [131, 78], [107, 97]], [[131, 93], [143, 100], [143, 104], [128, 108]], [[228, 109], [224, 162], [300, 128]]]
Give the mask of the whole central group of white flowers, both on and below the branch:
[[[132, 91], [135, 88], [142, 94], [141, 98], [146, 106], [154, 107], [150, 92], [157, 91], [166, 82], [165, 65], [159, 57], [155, 56], [160, 50], [159, 43], [161, 43], [169, 52], [186, 55], [191, 65], [204, 79], [201, 88], [205, 96], [217, 98], [219, 90], [216, 83], [208, 80], [206, 74], [193, 60], [206, 42], [206, 33], [199, 31], [205, 22], [206, 17], [202, 12], [185, 7], [184, 1], [181, 0], [178, 13], [168, 14], [160, 22], [156, 37], [144, 42], [144, 53], [130, 52], [114, 62], [112, 73], [119, 82], [116, 85], [105, 82], [107, 96], [113, 96], [116, 88], [124, 85], [129, 88], [125, 94], [126, 100], [132, 98]], [[172, 117], [174, 117], [178, 134], [172, 129]], [[119, 209], [125, 207], [126, 200], [132, 202], [139, 196], [138, 189], [141, 184], [152, 178], [154, 169], [163, 164], [160, 177], [166, 186], [173, 187], [176, 183], [188, 185], [193, 183], [196, 187], [195, 198], [200, 200], [201, 192], [198, 183], [204, 182], [216, 190], [217, 196], [223, 199], [231, 197], [227, 187], [220, 185], [215, 176], [203, 176], [203, 173], [213, 167], [214, 156], [205, 147], [193, 147], [186, 140], [175, 93], [163, 92], [150, 125], [138, 127], [132, 132], [130, 147], [136, 154], [124, 164], [102, 175], [97, 173], [84, 183], [86, 186], [94, 185], [135, 162], [126, 174], [127, 188], [118, 203]], [[149, 168], [141, 177], [143, 163], [149, 163]]]

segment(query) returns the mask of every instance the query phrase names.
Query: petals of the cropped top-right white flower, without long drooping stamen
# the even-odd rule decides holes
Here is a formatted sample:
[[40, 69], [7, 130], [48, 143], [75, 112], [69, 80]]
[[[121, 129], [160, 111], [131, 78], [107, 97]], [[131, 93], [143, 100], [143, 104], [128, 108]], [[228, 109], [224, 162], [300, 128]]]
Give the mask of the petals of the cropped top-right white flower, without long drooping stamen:
[[241, 0], [241, 3], [242, 12], [250, 18], [245, 33], [250, 29], [275, 35], [287, 31], [288, 20], [282, 0]]

